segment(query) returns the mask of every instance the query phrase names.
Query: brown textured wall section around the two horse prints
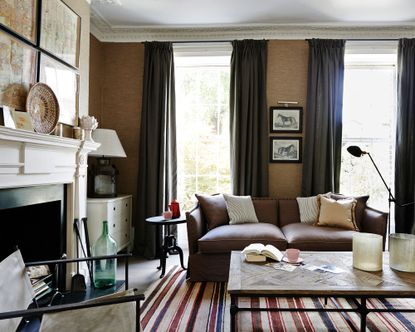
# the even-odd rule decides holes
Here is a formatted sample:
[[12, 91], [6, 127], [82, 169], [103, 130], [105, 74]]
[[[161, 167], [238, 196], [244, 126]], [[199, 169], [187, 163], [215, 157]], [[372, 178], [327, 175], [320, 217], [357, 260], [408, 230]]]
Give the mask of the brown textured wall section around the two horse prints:
[[[268, 106], [277, 101], [298, 101], [303, 111], [302, 134], [270, 134], [269, 136], [304, 137], [307, 118], [308, 43], [304, 40], [271, 40], [268, 43]], [[269, 128], [266, 129], [269, 131]], [[303, 140], [304, 145], [304, 140]], [[296, 197], [301, 194], [302, 164], [269, 164], [269, 195]]]

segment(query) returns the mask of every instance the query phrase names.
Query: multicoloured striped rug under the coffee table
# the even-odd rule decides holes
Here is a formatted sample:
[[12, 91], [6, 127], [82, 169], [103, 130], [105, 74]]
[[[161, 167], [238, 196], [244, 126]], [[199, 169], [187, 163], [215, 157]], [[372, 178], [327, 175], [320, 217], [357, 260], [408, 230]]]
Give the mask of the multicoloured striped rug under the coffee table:
[[[229, 331], [230, 297], [226, 283], [186, 280], [186, 272], [172, 268], [146, 292], [141, 308], [143, 331]], [[240, 306], [291, 308], [322, 307], [323, 299], [240, 299]], [[368, 300], [377, 308], [414, 308], [415, 299]], [[329, 307], [350, 308], [346, 299], [329, 299]], [[356, 313], [239, 312], [238, 331], [359, 331]], [[368, 331], [415, 331], [415, 313], [371, 313]]]

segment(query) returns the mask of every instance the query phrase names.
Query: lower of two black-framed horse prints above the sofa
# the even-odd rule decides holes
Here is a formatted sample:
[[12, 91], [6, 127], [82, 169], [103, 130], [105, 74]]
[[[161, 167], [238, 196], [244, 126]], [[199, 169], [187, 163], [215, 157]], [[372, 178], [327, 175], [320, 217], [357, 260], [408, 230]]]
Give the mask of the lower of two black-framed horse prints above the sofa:
[[271, 163], [301, 163], [302, 138], [301, 137], [271, 137], [270, 138]]

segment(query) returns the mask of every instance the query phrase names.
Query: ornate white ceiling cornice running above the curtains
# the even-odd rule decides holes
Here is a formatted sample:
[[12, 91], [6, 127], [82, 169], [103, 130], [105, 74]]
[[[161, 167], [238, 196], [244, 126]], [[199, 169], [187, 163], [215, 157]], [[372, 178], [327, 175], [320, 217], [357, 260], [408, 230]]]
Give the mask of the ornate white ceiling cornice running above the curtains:
[[407, 25], [250, 24], [223, 26], [118, 27], [91, 8], [91, 33], [101, 42], [221, 41], [234, 39], [399, 39], [415, 38]]

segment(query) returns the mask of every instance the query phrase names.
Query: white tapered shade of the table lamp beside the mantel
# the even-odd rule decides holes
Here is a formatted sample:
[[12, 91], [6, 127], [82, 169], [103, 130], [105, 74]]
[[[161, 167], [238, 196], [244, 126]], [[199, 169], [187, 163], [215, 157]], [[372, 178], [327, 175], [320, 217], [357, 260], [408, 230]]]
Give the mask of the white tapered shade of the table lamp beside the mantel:
[[115, 130], [102, 128], [95, 129], [92, 132], [92, 138], [95, 142], [101, 143], [101, 146], [98, 150], [91, 152], [89, 154], [90, 156], [127, 157]]

